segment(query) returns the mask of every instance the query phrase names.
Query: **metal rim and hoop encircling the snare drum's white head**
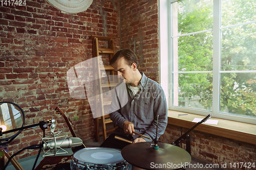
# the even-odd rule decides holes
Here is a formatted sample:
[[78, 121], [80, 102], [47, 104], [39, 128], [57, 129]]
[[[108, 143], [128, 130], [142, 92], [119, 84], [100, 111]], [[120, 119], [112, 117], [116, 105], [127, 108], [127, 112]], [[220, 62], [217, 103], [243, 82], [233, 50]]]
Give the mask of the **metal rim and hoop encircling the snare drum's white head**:
[[[121, 155], [121, 150], [119, 150], [119, 149], [115, 149], [115, 148], [104, 148], [104, 147], [83, 148], [83, 149], [77, 150], [76, 152], [81, 151], [81, 150], [95, 150], [95, 149], [116, 150], [116, 151], [120, 151], [120, 155]], [[85, 162], [85, 161], [81, 161], [81, 160], [79, 160], [79, 159], [77, 159], [77, 158], [74, 157], [74, 154], [75, 154], [76, 152], [74, 152], [74, 153], [72, 154], [72, 156], [71, 156], [71, 162], [74, 160], [75, 162], [77, 162], [77, 163], [79, 163], [79, 164], [81, 164], [81, 165], [84, 165], [84, 166], [86, 166], [86, 165], [88, 165], [88, 164], [89, 164], [89, 165], [92, 164], [92, 165], [97, 165], [97, 166], [92, 166], [92, 165], [90, 165], [89, 167], [98, 167], [98, 166], [100, 166], [100, 167], [111, 167], [111, 166], [113, 166], [113, 167], [118, 167], [118, 166], [122, 166], [122, 165], [128, 164], [128, 162], [127, 162], [125, 159], [123, 159], [124, 161], [122, 161], [122, 162], [103, 163], [103, 164]], [[121, 155], [121, 156], [122, 156], [122, 155]]]

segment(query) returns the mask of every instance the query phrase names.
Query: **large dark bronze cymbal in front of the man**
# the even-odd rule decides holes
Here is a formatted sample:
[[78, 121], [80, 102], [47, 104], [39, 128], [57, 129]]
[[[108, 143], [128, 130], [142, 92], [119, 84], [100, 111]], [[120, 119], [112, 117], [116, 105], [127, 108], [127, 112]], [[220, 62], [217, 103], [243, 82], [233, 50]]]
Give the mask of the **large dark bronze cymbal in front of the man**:
[[159, 149], [153, 149], [154, 142], [129, 144], [121, 151], [123, 159], [144, 169], [181, 169], [189, 164], [191, 156], [185, 150], [168, 143], [158, 142]]

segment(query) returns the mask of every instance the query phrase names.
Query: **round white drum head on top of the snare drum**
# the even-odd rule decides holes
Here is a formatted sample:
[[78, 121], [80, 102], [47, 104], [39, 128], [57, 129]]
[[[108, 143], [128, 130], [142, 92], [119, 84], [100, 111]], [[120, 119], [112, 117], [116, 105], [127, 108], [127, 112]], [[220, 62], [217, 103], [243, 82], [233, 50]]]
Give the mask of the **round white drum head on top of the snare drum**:
[[75, 152], [73, 157], [93, 164], [116, 164], [124, 161], [121, 151], [112, 148], [84, 148]]

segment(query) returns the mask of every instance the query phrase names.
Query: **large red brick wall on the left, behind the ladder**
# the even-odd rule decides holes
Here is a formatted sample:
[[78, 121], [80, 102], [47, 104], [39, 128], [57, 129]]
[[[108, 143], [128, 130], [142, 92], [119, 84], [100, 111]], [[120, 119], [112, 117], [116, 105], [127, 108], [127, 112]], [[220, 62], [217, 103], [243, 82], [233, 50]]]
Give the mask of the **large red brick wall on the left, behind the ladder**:
[[[120, 48], [119, 1], [94, 0], [77, 14], [62, 13], [44, 0], [26, 3], [0, 7], [0, 101], [22, 107], [25, 126], [54, 118], [56, 130], [72, 137], [65, 119], [55, 113], [58, 106], [78, 137], [94, 138], [88, 100], [70, 97], [66, 73], [92, 58], [91, 35], [117, 37], [116, 49]], [[24, 130], [9, 144], [9, 150], [15, 153], [38, 144], [41, 132], [39, 127]], [[25, 151], [16, 159], [34, 154], [37, 151]]]

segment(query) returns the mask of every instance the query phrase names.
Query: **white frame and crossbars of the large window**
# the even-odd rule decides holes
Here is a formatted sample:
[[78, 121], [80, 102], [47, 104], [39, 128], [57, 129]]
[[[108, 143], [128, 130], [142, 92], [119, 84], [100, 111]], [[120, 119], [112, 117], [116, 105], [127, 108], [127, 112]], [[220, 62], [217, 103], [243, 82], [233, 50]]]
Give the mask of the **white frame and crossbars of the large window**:
[[[213, 0], [214, 1], [214, 19], [213, 29], [212, 30], [205, 30], [213, 31], [213, 71], [190, 71], [193, 73], [196, 72], [212, 72], [213, 73], [213, 94], [212, 94], [212, 111], [203, 111], [203, 110], [196, 110], [190, 108], [182, 108], [177, 106], [172, 106], [173, 98], [173, 54], [172, 54], [172, 3], [177, 2], [177, 0], [161, 0], [159, 1], [159, 44], [160, 44], [160, 84], [165, 92], [167, 105], [169, 110], [176, 110], [181, 112], [187, 113], [194, 113], [200, 115], [207, 115], [212, 114], [214, 117], [235, 120], [238, 122], [256, 124], [256, 118], [245, 117], [240, 115], [233, 115], [228, 113], [220, 113], [220, 74], [221, 73], [229, 73], [229, 72], [245, 72], [241, 71], [221, 71], [220, 70], [220, 62], [221, 62], [221, 29], [236, 27], [240, 25], [246, 25], [249, 23], [254, 23], [256, 21], [241, 23], [238, 25], [221, 27], [221, 1], [220, 0]], [[201, 32], [197, 32], [201, 33]], [[191, 33], [195, 34], [195, 33]], [[246, 71], [246, 72], [256, 72], [256, 70]], [[176, 72], [177, 73], [177, 72]], [[178, 73], [184, 73], [179, 71]], [[188, 72], [186, 72], [188, 73]], [[215, 92], [218, 91], [218, 92]]]

